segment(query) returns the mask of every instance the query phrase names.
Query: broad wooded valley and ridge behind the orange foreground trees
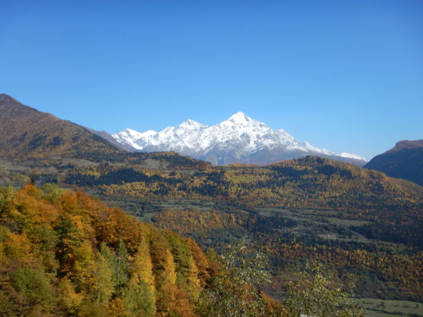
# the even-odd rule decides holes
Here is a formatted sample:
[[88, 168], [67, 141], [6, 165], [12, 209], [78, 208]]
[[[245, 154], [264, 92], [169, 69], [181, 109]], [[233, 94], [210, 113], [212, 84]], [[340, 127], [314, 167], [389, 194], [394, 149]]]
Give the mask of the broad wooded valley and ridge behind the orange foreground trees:
[[[304, 258], [355, 275], [358, 294], [422, 300], [423, 187], [306, 157], [204, 170], [83, 167], [62, 178], [200, 245], [251, 241], [284, 284]], [[124, 183], [121, 183], [124, 180]]]

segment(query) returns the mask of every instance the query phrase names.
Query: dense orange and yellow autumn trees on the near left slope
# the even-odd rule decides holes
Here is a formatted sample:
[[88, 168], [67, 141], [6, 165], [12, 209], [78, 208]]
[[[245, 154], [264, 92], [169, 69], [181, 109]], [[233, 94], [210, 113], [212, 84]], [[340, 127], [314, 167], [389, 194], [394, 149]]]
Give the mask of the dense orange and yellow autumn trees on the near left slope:
[[195, 242], [83, 192], [0, 189], [1, 316], [197, 316]]

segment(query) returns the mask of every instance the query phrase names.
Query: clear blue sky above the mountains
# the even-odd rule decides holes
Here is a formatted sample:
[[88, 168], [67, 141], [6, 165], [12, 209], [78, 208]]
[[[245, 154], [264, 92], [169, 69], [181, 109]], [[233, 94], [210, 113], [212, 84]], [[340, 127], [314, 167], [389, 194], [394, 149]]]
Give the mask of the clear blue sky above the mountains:
[[110, 133], [242, 111], [371, 159], [423, 139], [423, 1], [3, 1], [0, 92]]

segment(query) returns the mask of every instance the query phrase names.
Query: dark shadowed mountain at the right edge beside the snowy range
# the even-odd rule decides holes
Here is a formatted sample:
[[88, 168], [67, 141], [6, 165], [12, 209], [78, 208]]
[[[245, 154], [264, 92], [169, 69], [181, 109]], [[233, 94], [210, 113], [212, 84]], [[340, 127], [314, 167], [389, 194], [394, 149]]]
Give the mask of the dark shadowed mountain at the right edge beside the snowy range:
[[400, 141], [393, 149], [375, 156], [364, 167], [423, 186], [423, 140]]

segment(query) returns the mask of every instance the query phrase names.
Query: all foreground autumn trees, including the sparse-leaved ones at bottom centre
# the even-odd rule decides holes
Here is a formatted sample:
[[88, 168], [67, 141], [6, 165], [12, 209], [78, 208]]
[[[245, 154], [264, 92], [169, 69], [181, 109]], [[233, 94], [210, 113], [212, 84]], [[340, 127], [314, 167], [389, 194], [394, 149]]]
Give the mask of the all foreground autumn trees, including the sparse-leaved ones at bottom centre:
[[[1, 316], [362, 316], [320, 269], [304, 271], [280, 305], [259, 291], [266, 262], [244, 243], [206, 256], [193, 240], [81, 191], [0, 187]], [[315, 278], [302, 294], [319, 290], [327, 300], [303, 309], [295, 285]]]

